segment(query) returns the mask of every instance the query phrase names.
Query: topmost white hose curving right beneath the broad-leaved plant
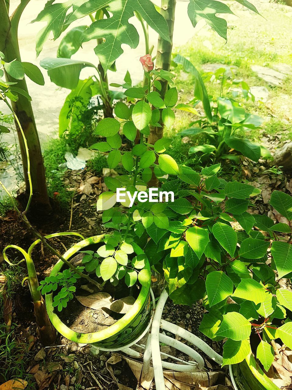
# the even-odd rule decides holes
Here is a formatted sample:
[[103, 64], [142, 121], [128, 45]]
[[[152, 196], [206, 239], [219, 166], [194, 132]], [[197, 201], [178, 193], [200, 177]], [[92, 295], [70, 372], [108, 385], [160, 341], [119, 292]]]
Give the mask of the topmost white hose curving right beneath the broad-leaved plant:
[[[154, 321], [154, 319], [153, 319], [153, 321]], [[176, 324], [172, 324], [172, 323], [165, 321], [163, 319], [160, 322], [160, 327], [162, 329], [166, 330], [167, 332], [174, 333], [175, 335], [178, 335], [179, 337], [182, 337], [183, 339], [188, 340], [194, 346], [198, 347], [199, 349], [201, 349], [201, 351], [206, 353], [206, 355], [209, 356], [212, 360], [215, 360], [216, 363], [218, 363], [218, 364], [223, 363], [222, 356], [218, 355], [218, 353], [216, 353], [211, 347], [209, 347], [208, 344], [206, 344], [203, 340], [199, 339], [199, 337], [188, 332], [188, 330], [185, 330], [185, 329], [181, 328], [180, 326], [178, 326]], [[153, 324], [152, 324], [152, 328], [153, 328]]]

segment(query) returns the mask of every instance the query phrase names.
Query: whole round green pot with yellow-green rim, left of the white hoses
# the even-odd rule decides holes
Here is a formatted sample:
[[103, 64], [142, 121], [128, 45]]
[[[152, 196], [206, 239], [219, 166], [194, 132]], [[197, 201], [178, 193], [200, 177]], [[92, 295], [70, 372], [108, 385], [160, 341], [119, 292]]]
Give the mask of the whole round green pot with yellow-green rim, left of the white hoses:
[[[102, 243], [104, 236], [94, 236], [87, 238], [73, 245], [63, 255], [66, 260], [71, 259], [80, 250], [86, 250], [88, 246]], [[135, 254], [144, 253], [143, 250], [135, 243], [132, 244]], [[62, 270], [64, 263], [59, 260], [51, 271], [51, 276], [57, 275]], [[150, 264], [147, 262], [146, 268], [150, 270]], [[130, 310], [116, 323], [106, 329], [93, 333], [79, 333], [68, 328], [58, 317], [57, 311], [52, 306], [53, 293], [46, 294], [47, 314], [56, 330], [69, 340], [82, 344], [95, 344], [97, 347], [105, 349], [119, 349], [133, 343], [144, 332], [150, 321], [151, 305], [150, 305], [150, 284], [141, 286], [141, 291], [134, 305]]]

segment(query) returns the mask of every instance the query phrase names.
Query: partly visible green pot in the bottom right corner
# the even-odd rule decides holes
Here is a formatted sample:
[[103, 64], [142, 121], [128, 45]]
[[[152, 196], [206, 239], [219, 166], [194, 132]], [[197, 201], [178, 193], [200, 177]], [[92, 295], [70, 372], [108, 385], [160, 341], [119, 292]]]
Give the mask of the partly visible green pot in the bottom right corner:
[[252, 353], [243, 362], [233, 364], [230, 371], [237, 390], [279, 390], [262, 371]]

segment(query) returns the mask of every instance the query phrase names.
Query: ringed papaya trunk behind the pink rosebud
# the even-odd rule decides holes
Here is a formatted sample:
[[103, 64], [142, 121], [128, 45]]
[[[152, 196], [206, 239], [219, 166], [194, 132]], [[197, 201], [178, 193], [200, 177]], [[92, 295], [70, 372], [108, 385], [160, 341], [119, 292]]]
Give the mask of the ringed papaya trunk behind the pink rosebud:
[[[161, 0], [161, 8], [160, 13], [164, 17], [164, 19], [167, 21], [168, 28], [169, 28], [169, 37], [172, 41], [172, 35], [173, 35], [173, 27], [174, 27], [174, 13], [175, 13], [175, 7], [176, 7], [176, 0]], [[162, 37], [158, 37], [158, 45], [157, 45], [157, 55], [156, 55], [156, 63], [155, 68], [157, 70], [163, 69], [165, 71], [169, 71], [170, 64], [171, 64], [171, 51], [172, 51], [172, 43], [169, 43], [162, 39]], [[161, 83], [161, 97], [164, 98], [165, 92], [167, 91], [167, 81], [166, 80], [159, 80]], [[160, 110], [162, 111], [162, 110]], [[161, 122], [162, 127], [151, 127], [150, 128], [150, 135], [148, 137], [148, 143], [151, 145], [154, 145], [157, 140], [160, 140], [160, 138], [163, 137], [163, 123]], [[153, 174], [152, 179], [149, 183], [150, 187], [157, 187], [158, 186], [158, 179]]]

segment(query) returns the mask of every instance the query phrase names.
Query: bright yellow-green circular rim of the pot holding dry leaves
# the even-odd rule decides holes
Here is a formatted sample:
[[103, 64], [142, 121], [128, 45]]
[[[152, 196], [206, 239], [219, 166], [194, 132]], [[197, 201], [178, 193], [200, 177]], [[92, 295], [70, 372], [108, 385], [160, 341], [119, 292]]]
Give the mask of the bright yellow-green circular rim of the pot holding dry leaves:
[[[104, 235], [100, 236], [93, 236], [90, 238], [86, 238], [82, 241], [79, 241], [77, 244], [71, 246], [65, 252], [63, 255], [64, 259], [68, 260], [72, 255], [76, 254], [79, 250], [82, 250], [84, 247], [92, 244], [97, 244], [101, 242], [104, 238]], [[144, 254], [144, 251], [136, 244], [132, 243], [134, 247], [135, 254]], [[55, 276], [63, 266], [63, 261], [59, 260], [55, 266], [53, 267], [50, 276]], [[149, 261], [146, 262], [146, 269], [150, 271], [150, 264]], [[63, 336], [65, 336], [67, 339], [82, 343], [82, 344], [92, 344], [95, 342], [99, 342], [102, 340], [106, 340], [109, 337], [112, 337], [116, 335], [116, 333], [120, 332], [128, 326], [135, 317], [139, 314], [142, 305], [144, 304], [145, 300], [148, 298], [149, 292], [150, 292], [150, 284], [151, 280], [147, 282], [147, 284], [142, 285], [141, 291], [134, 303], [134, 305], [130, 308], [130, 310], [116, 323], [109, 326], [106, 329], [99, 330], [97, 332], [91, 332], [91, 333], [81, 333], [81, 332], [75, 332], [74, 330], [70, 329], [67, 325], [65, 325], [61, 319], [58, 317], [58, 315], [54, 312], [54, 307], [52, 306], [53, 303], [53, 292], [50, 294], [46, 294], [46, 308], [47, 308], [47, 314], [49, 316], [49, 319], [51, 320], [51, 323], [55, 326], [56, 330], [58, 330], [59, 333], [61, 333]]]

